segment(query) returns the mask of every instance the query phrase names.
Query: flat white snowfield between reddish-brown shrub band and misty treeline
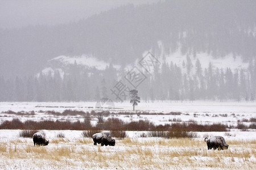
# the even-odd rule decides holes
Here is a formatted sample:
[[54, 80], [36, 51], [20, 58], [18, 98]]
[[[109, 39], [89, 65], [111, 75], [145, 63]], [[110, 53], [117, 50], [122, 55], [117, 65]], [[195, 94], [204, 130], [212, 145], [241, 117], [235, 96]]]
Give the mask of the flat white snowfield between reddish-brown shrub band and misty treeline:
[[[21, 121], [26, 120], [69, 120], [69, 121], [83, 121], [84, 116], [56, 116], [51, 114], [45, 114], [47, 111], [63, 112], [66, 109], [77, 111], [109, 111], [109, 112], [133, 112], [131, 104], [129, 102], [114, 103], [115, 108], [95, 108], [96, 102], [80, 102], [80, 103], [0, 103], [0, 121], [12, 120], [13, 118], [19, 118]], [[115, 115], [124, 121], [138, 121], [149, 120], [156, 125], [170, 124], [175, 121], [196, 121], [200, 124], [212, 124], [223, 123], [228, 125], [237, 125], [237, 121], [250, 120], [250, 118], [256, 118], [256, 103], [246, 102], [226, 102], [220, 103], [216, 101], [183, 101], [183, 103], [159, 101], [155, 103], [139, 103], [135, 107], [137, 114], [133, 115]], [[33, 116], [17, 116], [14, 114], [5, 114], [6, 111], [14, 112], [30, 112], [35, 111]], [[165, 113], [163, 115], [143, 115], [139, 112], [150, 113]], [[170, 115], [166, 113], [180, 112], [180, 115]], [[105, 117], [107, 118], [107, 117]], [[92, 124], [96, 124], [97, 119], [92, 120]], [[249, 122], [243, 121], [243, 124], [249, 125]]]

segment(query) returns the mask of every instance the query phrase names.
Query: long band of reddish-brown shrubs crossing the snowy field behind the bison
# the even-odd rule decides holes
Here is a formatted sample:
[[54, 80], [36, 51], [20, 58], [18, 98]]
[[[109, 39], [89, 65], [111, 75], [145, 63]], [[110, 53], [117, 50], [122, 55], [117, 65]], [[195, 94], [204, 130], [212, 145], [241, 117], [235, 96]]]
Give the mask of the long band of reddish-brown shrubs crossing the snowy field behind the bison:
[[98, 117], [95, 126], [90, 124], [90, 120], [85, 118], [84, 122], [76, 121], [20, 121], [14, 118], [11, 121], [3, 121], [0, 129], [22, 129], [22, 130], [110, 130], [110, 131], [227, 131], [227, 126], [222, 124], [199, 125], [196, 122], [173, 123], [166, 125], [154, 125], [148, 120], [124, 122], [118, 118], [108, 118], [104, 120]]

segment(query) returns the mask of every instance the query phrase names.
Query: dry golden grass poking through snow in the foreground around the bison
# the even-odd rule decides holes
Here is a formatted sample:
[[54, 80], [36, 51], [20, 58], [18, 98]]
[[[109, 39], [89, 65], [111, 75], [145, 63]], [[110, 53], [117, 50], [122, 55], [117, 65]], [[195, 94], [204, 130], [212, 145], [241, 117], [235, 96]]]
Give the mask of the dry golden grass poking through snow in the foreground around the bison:
[[256, 165], [255, 140], [226, 141], [229, 149], [222, 151], [207, 150], [204, 140], [188, 138], [125, 138], [114, 147], [94, 146], [91, 138], [51, 141], [48, 146], [34, 146], [31, 139], [0, 141], [0, 169], [9, 169], [14, 162], [23, 169], [254, 169]]

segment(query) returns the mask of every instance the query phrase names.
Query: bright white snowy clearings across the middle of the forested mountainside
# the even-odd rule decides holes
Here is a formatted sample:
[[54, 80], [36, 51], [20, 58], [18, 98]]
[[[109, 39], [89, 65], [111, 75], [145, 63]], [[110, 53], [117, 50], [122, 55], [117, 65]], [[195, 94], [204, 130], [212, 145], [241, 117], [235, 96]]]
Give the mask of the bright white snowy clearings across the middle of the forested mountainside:
[[[161, 43], [159, 43], [161, 44]], [[212, 69], [227, 69], [230, 68], [232, 71], [235, 71], [236, 69], [244, 69], [246, 70], [248, 67], [247, 62], [243, 62], [241, 56], [233, 57], [233, 54], [228, 54], [222, 58], [214, 58], [208, 53], [196, 53], [196, 54], [182, 54], [181, 50], [178, 49], [176, 52], [172, 54], [163, 54], [163, 46], [159, 45], [161, 54], [155, 55], [156, 58], [158, 58], [160, 62], [160, 67], [162, 66], [162, 63], [166, 62], [170, 64], [171, 62], [173, 64], [176, 64], [178, 67], [181, 68], [183, 73], [187, 71], [186, 65], [188, 63], [187, 57], [191, 59], [192, 63], [192, 72], [195, 72], [195, 66], [196, 66], [196, 60], [199, 59], [201, 63], [202, 69], [207, 69], [209, 66], [209, 63], [212, 64]], [[144, 53], [145, 54], [145, 53]], [[138, 59], [134, 61], [134, 63], [131, 63], [127, 65], [124, 69], [126, 71], [133, 69], [133, 66], [136, 65], [141, 59], [142, 56], [138, 56]], [[185, 64], [185, 65], [184, 65]], [[54, 75], [54, 72], [57, 70], [59, 71], [60, 75], [63, 77], [63, 75], [66, 73], [68, 74], [71, 67], [76, 67], [77, 69], [82, 70], [105, 70], [107, 67], [110, 66], [110, 63], [102, 61], [100, 59], [97, 59], [93, 56], [88, 56], [83, 54], [82, 56], [58, 56], [53, 59], [50, 59], [47, 62], [47, 66], [42, 70], [43, 74], [49, 74], [51, 73]], [[120, 69], [120, 65], [113, 65], [114, 69]]]

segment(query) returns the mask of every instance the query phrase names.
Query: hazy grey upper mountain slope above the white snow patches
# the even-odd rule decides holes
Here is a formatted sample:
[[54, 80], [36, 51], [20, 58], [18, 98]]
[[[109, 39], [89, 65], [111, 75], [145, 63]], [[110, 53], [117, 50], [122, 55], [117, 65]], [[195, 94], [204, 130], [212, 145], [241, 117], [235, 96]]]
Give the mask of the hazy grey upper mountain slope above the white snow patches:
[[33, 75], [56, 56], [89, 54], [125, 66], [145, 50], [171, 55], [256, 54], [256, 1], [160, 1], [126, 5], [80, 22], [0, 31], [0, 73]]

